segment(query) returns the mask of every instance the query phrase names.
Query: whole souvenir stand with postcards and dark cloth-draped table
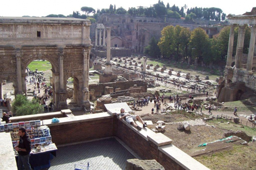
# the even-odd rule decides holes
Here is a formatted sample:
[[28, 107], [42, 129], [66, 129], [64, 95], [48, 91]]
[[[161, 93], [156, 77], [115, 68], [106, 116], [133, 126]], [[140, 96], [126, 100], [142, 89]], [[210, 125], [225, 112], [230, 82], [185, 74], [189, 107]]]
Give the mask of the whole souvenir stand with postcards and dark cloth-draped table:
[[[41, 126], [41, 121], [22, 121], [17, 123], [7, 123], [0, 125], [0, 131], [10, 132], [12, 145], [19, 144], [19, 127], [26, 128], [26, 132], [31, 138], [31, 153], [29, 163], [33, 170], [50, 168], [50, 159], [56, 157], [57, 147], [52, 143], [50, 129], [47, 126]], [[14, 149], [15, 151], [15, 149]], [[18, 153], [15, 151], [16, 161], [18, 163]]]

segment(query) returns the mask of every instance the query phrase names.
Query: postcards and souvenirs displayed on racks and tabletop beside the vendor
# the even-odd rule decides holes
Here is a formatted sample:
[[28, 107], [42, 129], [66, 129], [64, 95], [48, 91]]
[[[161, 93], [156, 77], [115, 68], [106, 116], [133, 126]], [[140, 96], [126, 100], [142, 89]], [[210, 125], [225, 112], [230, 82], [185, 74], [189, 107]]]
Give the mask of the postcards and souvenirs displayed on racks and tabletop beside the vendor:
[[[19, 144], [19, 127], [26, 128], [26, 132], [31, 138], [31, 154], [57, 149], [56, 145], [52, 143], [50, 129], [48, 126], [41, 126], [40, 120], [0, 124], [0, 132], [10, 132], [13, 147]], [[37, 149], [38, 146], [41, 148]]]

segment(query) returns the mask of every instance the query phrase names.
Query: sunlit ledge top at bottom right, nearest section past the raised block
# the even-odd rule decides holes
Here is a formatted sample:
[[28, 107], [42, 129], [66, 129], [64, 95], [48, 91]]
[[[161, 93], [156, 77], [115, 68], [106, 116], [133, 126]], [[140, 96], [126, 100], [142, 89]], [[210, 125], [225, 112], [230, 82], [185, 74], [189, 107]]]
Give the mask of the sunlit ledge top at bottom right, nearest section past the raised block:
[[[210, 170], [172, 144], [158, 147], [158, 149], [173, 161], [175, 161], [178, 165], [183, 167], [185, 170]], [[161, 164], [164, 165], [164, 163]]]

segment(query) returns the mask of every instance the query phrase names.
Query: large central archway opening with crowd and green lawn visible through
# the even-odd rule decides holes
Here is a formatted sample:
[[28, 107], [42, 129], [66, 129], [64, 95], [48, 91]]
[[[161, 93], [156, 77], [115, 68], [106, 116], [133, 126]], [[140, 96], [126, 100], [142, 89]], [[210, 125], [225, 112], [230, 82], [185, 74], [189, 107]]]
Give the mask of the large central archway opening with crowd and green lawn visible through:
[[52, 81], [52, 64], [47, 60], [34, 60], [28, 64], [25, 75], [23, 92], [28, 99], [36, 98], [38, 102], [45, 105], [45, 112], [53, 112], [55, 107], [54, 87]]

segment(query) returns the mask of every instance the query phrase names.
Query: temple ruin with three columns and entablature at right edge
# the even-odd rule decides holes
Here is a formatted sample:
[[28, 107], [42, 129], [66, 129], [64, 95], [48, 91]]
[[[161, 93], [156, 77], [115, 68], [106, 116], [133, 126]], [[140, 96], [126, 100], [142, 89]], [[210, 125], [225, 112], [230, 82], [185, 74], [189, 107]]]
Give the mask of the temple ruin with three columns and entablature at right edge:
[[[225, 67], [224, 81], [218, 88], [218, 102], [229, 102], [240, 100], [243, 93], [249, 90], [256, 90], [256, 75], [254, 67], [256, 65], [255, 37], [256, 37], [256, 7], [251, 12], [243, 15], [228, 16], [230, 19], [230, 37], [228, 44], [227, 64]], [[244, 47], [245, 26], [251, 27], [251, 39], [247, 61], [242, 60]], [[232, 51], [234, 45], [235, 27], [239, 27], [237, 38], [237, 49], [235, 55], [235, 65], [232, 67]], [[254, 67], [253, 67], [254, 66]]]

